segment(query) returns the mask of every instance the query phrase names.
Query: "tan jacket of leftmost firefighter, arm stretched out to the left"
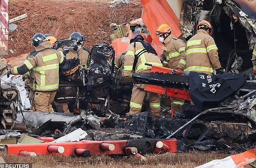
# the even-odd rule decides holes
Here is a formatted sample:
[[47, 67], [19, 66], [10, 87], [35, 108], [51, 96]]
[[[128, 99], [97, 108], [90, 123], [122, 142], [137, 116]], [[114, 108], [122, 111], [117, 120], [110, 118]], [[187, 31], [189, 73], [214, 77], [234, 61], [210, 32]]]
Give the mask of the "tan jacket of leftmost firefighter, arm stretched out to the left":
[[25, 59], [20, 67], [11, 68], [11, 74], [25, 74], [33, 69], [35, 90], [40, 92], [57, 90], [59, 87], [59, 64], [64, 61], [62, 52], [52, 49], [49, 41], [36, 47], [33, 57]]

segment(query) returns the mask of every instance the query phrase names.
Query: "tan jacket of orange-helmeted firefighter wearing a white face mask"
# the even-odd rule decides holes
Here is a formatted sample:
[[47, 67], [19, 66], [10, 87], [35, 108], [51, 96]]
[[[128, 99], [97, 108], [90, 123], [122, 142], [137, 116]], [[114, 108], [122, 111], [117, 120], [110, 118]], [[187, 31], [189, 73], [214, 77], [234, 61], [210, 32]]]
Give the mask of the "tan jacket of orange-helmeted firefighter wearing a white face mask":
[[169, 35], [164, 40], [164, 45], [161, 58], [163, 65], [167, 68], [184, 70], [186, 68], [185, 43]]

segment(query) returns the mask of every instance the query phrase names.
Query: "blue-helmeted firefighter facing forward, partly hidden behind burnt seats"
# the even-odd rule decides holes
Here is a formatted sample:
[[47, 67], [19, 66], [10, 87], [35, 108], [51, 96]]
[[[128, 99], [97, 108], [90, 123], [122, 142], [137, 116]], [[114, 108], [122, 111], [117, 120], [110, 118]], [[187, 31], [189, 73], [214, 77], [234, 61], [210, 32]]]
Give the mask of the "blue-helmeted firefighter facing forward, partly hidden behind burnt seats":
[[[78, 58], [80, 59], [80, 65], [87, 69], [87, 60], [89, 57], [90, 50], [88, 48], [83, 47], [85, 43], [85, 38], [83, 35], [81, 35], [78, 32], [73, 32], [69, 38], [71, 40], [76, 40], [77, 47], [72, 49], [72, 50], [64, 50], [63, 54], [66, 59], [73, 59], [73, 58]], [[78, 65], [78, 67], [80, 66]], [[78, 67], [76, 67], [78, 69]], [[69, 108], [68, 108], [68, 102], [54, 102], [56, 105], [56, 108], [60, 109], [60, 112], [64, 113], [70, 113]]]

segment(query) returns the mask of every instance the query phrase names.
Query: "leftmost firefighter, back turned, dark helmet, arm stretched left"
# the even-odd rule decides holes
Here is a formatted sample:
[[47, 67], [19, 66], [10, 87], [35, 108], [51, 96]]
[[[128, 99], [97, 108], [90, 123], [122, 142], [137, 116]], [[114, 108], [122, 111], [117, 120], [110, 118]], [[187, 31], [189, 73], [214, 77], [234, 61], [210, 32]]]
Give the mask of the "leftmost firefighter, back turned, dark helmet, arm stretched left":
[[52, 44], [41, 33], [33, 36], [32, 44], [36, 48], [31, 52], [33, 57], [25, 59], [20, 67], [11, 68], [11, 74], [25, 74], [33, 70], [36, 110], [52, 112], [51, 103], [59, 87], [59, 64], [64, 62], [64, 55], [53, 50]]

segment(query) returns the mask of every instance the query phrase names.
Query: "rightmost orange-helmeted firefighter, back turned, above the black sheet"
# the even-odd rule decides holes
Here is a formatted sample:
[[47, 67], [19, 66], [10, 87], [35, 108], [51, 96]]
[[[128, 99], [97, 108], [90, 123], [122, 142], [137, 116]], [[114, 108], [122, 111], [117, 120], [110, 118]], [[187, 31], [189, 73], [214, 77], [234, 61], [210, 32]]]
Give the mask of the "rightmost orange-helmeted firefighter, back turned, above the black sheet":
[[197, 25], [198, 33], [187, 41], [187, 71], [203, 72], [213, 75], [214, 69], [217, 74], [225, 72], [221, 68], [218, 48], [214, 39], [209, 35], [212, 32], [211, 24], [205, 20]]

